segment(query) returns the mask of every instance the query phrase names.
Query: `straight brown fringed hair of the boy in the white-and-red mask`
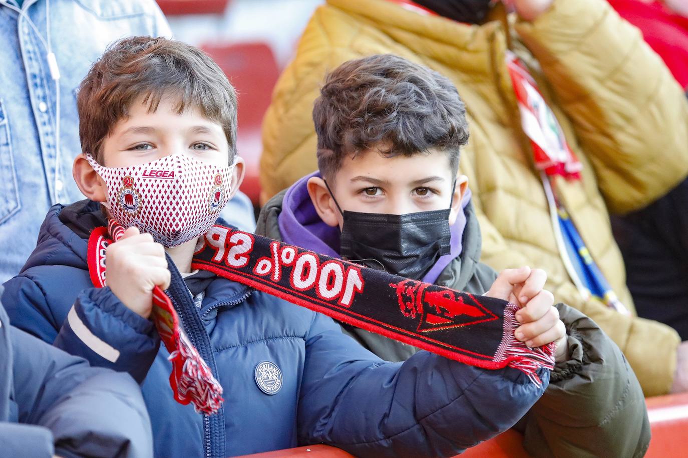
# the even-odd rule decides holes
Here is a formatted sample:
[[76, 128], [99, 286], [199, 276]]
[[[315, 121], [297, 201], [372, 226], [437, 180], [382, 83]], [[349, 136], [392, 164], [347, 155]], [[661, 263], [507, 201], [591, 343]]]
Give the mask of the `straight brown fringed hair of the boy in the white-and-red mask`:
[[179, 114], [193, 106], [220, 124], [233, 161], [237, 93], [227, 77], [200, 49], [149, 36], [124, 38], [109, 46], [81, 82], [76, 98], [81, 150], [103, 163], [103, 140], [116, 122], [127, 117], [131, 104], [142, 100], [153, 112], [163, 97], [176, 100]]

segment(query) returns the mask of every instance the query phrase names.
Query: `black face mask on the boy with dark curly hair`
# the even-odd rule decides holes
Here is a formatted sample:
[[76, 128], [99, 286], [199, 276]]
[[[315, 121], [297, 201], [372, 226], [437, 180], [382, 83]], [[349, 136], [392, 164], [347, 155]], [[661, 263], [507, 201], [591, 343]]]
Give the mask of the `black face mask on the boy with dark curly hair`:
[[344, 218], [339, 253], [345, 260], [420, 280], [450, 253], [451, 203], [447, 209], [405, 215], [342, 211], [325, 185]]

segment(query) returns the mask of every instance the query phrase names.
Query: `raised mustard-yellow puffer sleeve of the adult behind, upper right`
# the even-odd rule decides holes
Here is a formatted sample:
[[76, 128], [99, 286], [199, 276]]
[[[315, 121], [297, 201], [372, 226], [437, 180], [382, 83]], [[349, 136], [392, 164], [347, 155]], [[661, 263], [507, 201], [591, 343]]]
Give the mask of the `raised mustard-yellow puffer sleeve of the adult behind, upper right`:
[[685, 178], [685, 93], [636, 27], [606, 1], [555, 0], [516, 30], [585, 145], [611, 211], [645, 207]]

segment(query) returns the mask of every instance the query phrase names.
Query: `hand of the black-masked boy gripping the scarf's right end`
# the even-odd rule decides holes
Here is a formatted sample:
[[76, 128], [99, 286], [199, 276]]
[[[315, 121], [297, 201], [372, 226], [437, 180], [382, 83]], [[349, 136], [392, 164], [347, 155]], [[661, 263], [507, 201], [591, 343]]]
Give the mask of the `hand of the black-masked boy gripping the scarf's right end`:
[[485, 295], [519, 306], [516, 319], [521, 325], [515, 331], [516, 338], [528, 347], [557, 342], [555, 360], [559, 362], [568, 356], [568, 339], [559, 310], [554, 306], [554, 296], [544, 289], [546, 282], [547, 274], [539, 268], [506, 269]]

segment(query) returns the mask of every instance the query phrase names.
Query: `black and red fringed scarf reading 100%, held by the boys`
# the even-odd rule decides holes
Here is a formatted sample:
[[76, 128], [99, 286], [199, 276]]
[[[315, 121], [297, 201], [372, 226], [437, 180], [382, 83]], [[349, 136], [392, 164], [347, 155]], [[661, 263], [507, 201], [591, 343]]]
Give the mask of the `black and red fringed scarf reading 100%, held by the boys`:
[[[114, 240], [124, 231], [110, 222]], [[105, 227], [89, 238], [89, 271], [105, 284]], [[554, 367], [555, 344], [528, 348], [514, 336], [518, 307], [460, 293], [215, 225], [199, 239], [191, 268], [211, 271], [264, 293], [423, 350], [484, 369], [513, 367], [537, 385], [537, 369]], [[170, 352], [175, 399], [206, 413], [222, 388], [179, 328], [169, 297], [153, 293], [153, 321]]]

